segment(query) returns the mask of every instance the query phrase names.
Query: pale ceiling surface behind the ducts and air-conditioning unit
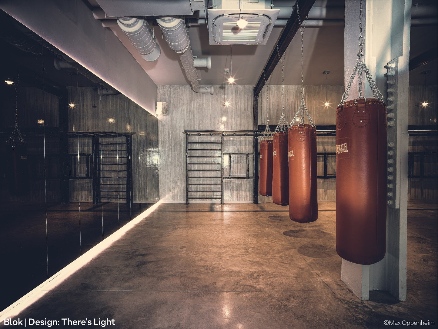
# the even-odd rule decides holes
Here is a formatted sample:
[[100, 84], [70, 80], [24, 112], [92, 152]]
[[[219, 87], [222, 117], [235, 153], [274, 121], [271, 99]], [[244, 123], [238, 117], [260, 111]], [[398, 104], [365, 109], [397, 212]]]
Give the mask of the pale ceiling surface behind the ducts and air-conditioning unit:
[[[101, 1], [101, 0], [97, 0]], [[120, 1], [120, 0], [119, 0]], [[88, 0], [92, 7], [99, 7], [96, 0]], [[151, 2], [151, 1], [149, 1]], [[278, 1], [277, 1], [278, 2]], [[434, 4], [436, 1], [425, 0], [423, 2]], [[295, 1], [280, 1], [280, 5], [286, 4], [292, 7]], [[276, 4], [276, 1], [274, 1]], [[343, 0], [317, 0], [314, 7], [334, 8], [336, 12], [343, 12]], [[276, 8], [276, 7], [274, 7]], [[177, 13], [176, 13], [177, 14]], [[343, 18], [343, 17], [342, 17]], [[161, 30], [154, 20], [148, 20], [151, 28], [154, 29], [157, 42], [161, 48], [161, 56], [155, 62], [147, 62], [135, 51], [127, 37], [114, 21], [104, 21], [110, 25], [113, 32], [120, 41], [130, 50], [131, 54], [137, 59], [138, 63], [148, 73], [149, 77], [157, 85], [184, 85], [189, 84], [184, 75], [178, 56], [167, 46], [162, 39]], [[155, 25], [155, 28], [154, 28]], [[269, 36], [266, 45], [209, 45], [208, 30], [206, 25], [192, 26], [189, 28], [189, 38], [194, 56], [212, 56], [211, 69], [198, 69], [201, 78], [201, 85], [222, 84], [225, 76], [224, 69], [231, 67], [232, 51], [232, 73], [237, 84], [254, 85], [260, 76], [266, 61], [268, 60], [277, 43], [279, 35], [283, 30], [282, 26], [275, 26]], [[413, 28], [411, 43], [414, 49], [411, 50], [411, 58], [424, 52], [428, 47], [436, 46], [436, 25], [423, 28]], [[419, 36], [417, 37], [417, 34]], [[435, 38], [434, 38], [435, 37]], [[418, 40], [432, 38], [435, 42], [420, 43]], [[434, 39], [433, 39], [434, 38]], [[412, 45], [411, 45], [412, 47]], [[301, 40], [300, 33], [293, 38], [284, 61], [284, 83], [301, 83]], [[304, 84], [306, 85], [325, 85], [326, 76], [322, 72], [330, 70], [327, 76], [329, 85], [343, 85], [344, 83], [344, 26], [341, 22], [335, 25], [308, 26], [304, 31]], [[428, 68], [436, 70], [436, 60], [427, 66], [420, 67], [417, 71], [421, 72]], [[416, 73], [419, 75], [419, 72]], [[415, 73], [415, 72], [414, 72]], [[418, 77], [417, 77], [418, 79]], [[281, 84], [281, 67], [277, 65], [271, 77], [271, 84]], [[424, 80], [424, 79], [423, 79]], [[411, 83], [412, 84], [412, 83]]]

